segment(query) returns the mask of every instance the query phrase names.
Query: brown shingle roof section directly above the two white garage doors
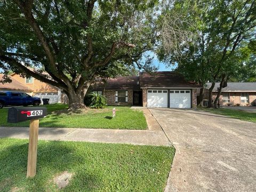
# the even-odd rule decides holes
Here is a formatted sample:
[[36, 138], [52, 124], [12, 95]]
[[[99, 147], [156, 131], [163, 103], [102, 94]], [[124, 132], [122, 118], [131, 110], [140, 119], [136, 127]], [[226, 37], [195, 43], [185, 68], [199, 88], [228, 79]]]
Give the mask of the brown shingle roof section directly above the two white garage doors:
[[201, 87], [195, 82], [188, 82], [178, 73], [172, 71], [157, 71], [154, 74], [146, 72], [140, 73], [140, 86], [141, 87], [162, 87], [162, 88], [175, 88], [175, 87]]

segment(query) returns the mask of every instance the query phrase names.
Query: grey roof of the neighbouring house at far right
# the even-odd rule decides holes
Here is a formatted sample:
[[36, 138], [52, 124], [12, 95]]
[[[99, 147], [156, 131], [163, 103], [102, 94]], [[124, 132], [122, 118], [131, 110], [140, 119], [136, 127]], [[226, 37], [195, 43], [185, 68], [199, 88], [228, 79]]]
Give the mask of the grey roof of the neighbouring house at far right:
[[[206, 89], [209, 89], [212, 83], [206, 83]], [[256, 82], [228, 82], [227, 87], [222, 89], [222, 92], [256, 92]], [[216, 83], [213, 91], [217, 91], [220, 83]]]

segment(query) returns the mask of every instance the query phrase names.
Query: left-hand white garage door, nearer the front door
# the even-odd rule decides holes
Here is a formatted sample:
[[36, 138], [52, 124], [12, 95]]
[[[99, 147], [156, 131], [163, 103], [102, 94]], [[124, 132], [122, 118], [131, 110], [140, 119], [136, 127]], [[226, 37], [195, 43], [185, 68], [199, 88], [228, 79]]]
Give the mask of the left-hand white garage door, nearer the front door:
[[167, 90], [148, 90], [147, 102], [148, 107], [167, 107], [168, 95]]

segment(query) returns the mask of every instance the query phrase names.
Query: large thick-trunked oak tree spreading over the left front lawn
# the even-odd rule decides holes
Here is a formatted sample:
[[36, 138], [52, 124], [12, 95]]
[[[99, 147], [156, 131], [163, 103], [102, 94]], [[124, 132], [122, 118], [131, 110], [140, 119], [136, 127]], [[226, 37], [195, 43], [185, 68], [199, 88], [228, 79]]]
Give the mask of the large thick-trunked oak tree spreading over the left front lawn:
[[154, 0], [0, 2], [0, 68], [57, 86], [70, 108], [84, 107], [96, 77], [133, 63], [151, 67], [140, 61], [156, 43], [156, 7]]

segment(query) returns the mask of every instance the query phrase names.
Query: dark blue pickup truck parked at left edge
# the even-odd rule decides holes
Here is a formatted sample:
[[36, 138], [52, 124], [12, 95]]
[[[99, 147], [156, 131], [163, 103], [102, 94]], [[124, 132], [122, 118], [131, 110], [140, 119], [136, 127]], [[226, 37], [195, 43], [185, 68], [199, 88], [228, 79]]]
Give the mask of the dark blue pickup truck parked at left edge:
[[27, 93], [1, 91], [0, 92], [0, 109], [4, 106], [38, 106], [41, 103], [41, 99], [37, 97], [31, 97]]

